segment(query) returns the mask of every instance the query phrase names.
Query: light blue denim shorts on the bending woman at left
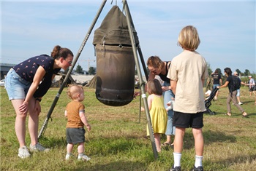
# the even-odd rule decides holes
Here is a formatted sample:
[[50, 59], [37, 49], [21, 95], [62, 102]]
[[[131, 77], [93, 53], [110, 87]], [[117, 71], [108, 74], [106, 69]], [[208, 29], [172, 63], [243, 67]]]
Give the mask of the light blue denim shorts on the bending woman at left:
[[31, 82], [22, 79], [12, 68], [5, 77], [5, 88], [9, 100], [25, 99]]

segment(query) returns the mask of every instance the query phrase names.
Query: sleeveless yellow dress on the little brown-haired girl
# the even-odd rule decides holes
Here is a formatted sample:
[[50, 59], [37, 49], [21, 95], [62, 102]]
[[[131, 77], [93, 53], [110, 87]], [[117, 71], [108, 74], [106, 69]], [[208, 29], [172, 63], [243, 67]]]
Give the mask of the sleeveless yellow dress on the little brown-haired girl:
[[[149, 114], [154, 133], [165, 134], [167, 127], [167, 112], [164, 106], [163, 96], [154, 95]], [[149, 136], [148, 126], [147, 135]]]

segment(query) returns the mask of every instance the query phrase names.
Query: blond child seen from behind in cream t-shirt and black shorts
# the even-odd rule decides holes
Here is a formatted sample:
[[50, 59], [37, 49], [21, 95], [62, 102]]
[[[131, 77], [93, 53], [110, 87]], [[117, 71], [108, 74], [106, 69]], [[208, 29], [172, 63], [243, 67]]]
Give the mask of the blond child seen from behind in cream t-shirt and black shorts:
[[203, 171], [203, 112], [206, 111], [203, 84], [208, 78], [206, 60], [197, 51], [200, 38], [197, 29], [188, 25], [182, 28], [178, 36], [178, 45], [183, 52], [172, 60], [167, 74], [170, 87], [175, 95], [173, 105], [174, 164], [170, 171], [181, 170], [181, 151], [186, 128], [192, 127], [195, 140], [194, 171]]

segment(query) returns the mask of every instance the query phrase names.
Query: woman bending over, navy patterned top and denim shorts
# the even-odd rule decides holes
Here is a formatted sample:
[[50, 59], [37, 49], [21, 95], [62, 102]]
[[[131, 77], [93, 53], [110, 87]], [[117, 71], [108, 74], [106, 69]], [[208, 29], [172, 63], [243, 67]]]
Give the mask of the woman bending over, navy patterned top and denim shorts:
[[26, 147], [26, 116], [29, 113], [30, 151], [49, 151], [38, 143], [38, 122], [41, 106], [39, 102], [49, 90], [51, 82], [61, 68], [66, 70], [71, 66], [73, 53], [71, 50], [54, 47], [51, 55], [39, 55], [15, 65], [7, 73], [6, 90], [12, 106], [15, 108], [15, 132], [20, 144], [18, 156], [29, 157]]

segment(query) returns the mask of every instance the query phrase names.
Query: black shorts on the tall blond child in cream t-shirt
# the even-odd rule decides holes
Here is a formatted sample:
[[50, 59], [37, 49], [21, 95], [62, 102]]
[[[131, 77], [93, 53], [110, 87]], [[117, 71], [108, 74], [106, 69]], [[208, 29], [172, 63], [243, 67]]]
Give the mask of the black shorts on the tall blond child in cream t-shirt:
[[203, 112], [187, 114], [179, 111], [173, 111], [173, 126], [183, 128], [202, 128]]

